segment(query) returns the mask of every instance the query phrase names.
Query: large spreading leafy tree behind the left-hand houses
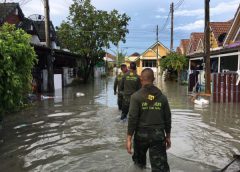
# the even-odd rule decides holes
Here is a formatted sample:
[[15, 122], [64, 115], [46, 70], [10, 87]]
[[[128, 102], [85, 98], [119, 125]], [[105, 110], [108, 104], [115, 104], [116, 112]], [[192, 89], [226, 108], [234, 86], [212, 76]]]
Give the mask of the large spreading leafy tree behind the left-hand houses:
[[84, 59], [84, 80], [87, 81], [94, 65], [101, 60], [104, 48], [110, 44], [125, 42], [130, 18], [117, 10], [111, 12], [97, 10], [91, 0], [73, 0], [67, 21], [57, 28], [62, 47], [80, 55]]

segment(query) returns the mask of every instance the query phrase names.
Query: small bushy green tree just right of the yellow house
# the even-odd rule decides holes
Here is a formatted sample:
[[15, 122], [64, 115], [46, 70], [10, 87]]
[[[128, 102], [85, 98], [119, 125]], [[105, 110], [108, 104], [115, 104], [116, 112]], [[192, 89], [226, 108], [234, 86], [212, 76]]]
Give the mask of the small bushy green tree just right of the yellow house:
[[174, 69], [178, 73], [178, 83], [181, 84], [181, 71], [187, 66], [187, 57], [176, 52], [171, 52], [161, 59], [160, 66], [165, 69]]

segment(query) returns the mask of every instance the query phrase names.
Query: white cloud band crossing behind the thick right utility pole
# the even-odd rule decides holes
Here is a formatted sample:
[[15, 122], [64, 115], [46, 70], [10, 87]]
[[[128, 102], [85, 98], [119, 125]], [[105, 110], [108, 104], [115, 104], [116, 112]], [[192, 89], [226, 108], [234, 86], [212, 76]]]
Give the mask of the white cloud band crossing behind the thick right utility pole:
[[[237, 7], [239, 5], [239, 0], [233, 0], [229, 2], [221, 2], [217, 6], [212, 7], [210, 9], [211, 16], [216, 16], [232, 11], [236, 11]], [[204, 9], [199, 8], [195, 10], [179, 10], [175, 12], [176, 16], [185, 16], [185, 17], [200, 17], [202, 18], [204, 16]]]

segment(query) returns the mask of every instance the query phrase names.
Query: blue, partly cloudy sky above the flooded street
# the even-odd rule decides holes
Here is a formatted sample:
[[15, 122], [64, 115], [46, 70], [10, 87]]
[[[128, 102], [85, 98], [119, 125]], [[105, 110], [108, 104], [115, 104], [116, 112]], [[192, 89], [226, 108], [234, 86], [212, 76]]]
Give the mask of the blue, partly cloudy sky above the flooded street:
[[[3, 0], [2, 0], [3, 1]], [[26, 17], [31, 14], [43, 14], [42, 0], [7, 0], [19, 2]], [[180, 7], [177, 6], [182, 2]], [[51, 20], [55, 26], [60, 25], [68, 16], [68, 8], [72, 0], [49, 0]], [[170, 3], [174, 2], [174, 47], [179, 40], [189, 38], [191, 32], [203, 31], [204, 0], [92, 0], [97, 9], [111, 11], [117, 9], [120, 13], [127, 13], [131, 17], [129, 35], [126, 44], [120, 48], [128, 55], [143, 53], [156, 41], [156, 26], [159, 26], [159, 40], [170, 46], [170, 20], [166, 23]], [[211, 21], [228, 21], [234, 17], [240, 0], [211, 0]], [[116, 49], [112, 47], [112, 49]]]

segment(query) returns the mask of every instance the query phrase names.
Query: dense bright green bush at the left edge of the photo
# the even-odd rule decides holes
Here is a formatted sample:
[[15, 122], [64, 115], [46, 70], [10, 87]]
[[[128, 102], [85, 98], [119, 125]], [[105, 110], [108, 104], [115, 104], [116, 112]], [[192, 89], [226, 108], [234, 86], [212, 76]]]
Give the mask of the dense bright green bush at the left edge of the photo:
[[0, 115], [23, 106], [35, 62], [30, 35], [14, 25], [0, 27]]

